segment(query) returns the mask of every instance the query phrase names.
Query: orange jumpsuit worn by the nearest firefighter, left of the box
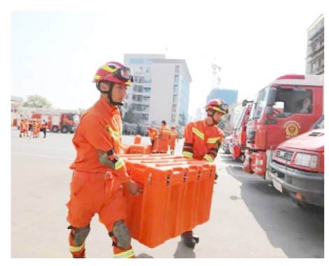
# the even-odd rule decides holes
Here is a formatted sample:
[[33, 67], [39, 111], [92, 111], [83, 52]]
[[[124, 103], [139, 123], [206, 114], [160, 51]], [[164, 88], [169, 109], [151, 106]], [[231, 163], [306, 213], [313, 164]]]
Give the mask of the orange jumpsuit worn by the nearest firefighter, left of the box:
[[[123, 183], [130, 178], [125, 164], [112, 170], [99, 163], [97, 150], [113, 151], [118, 154], [121, 145], [122, 120], [120, 110], [109, 105], [104, 98], [99, 98], [81, 117], [80, 124], [73, 137], [76, 159], [71, 164], [70, 200], [67, 221], [73, 228], [82, 228], [90, 224], [94, 214], [109, 232], [116, 221], [126, 219], [126, 202], [123, 196]], [[119, 159], [119, 161], [122, 159]], [[123, 162], [123, 161], [122, 161]], [[115, 238], [111, 235], [113, 242]], [[73, 256], [85, 253], [85, 243], [76, 246], [71, 233], [69, 235], [70, 251]], [[115, 258], [134, 258], [134, 251], [113, 246]]]

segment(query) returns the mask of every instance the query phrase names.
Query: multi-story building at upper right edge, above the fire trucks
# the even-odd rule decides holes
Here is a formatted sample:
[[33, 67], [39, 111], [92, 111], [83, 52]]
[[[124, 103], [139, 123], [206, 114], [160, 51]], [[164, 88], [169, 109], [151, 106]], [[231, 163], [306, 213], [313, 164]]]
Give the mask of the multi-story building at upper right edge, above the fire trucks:
[[306, 73], [324, 73], [324, 15], [307, 29]]

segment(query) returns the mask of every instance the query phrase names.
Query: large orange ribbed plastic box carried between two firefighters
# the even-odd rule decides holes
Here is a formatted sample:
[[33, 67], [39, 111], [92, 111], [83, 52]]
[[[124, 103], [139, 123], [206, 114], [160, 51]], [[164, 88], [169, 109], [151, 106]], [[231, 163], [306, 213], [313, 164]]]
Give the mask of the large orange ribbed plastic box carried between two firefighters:
[[[151, 156], [152, 155], [152, 156]], [[179, 156], [124, 155], [138, 197], [126, 193], [132, 237], [155, 247], [209, 220], [215, 165]]]

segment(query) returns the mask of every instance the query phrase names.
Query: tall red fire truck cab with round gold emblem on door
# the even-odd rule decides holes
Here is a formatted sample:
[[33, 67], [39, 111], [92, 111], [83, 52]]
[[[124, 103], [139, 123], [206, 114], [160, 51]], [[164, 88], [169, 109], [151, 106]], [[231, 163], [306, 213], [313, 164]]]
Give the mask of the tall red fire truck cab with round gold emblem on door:
[[283, 75], [261, 89], [246, 126], [244, 171], [271, 179], [269, 162], [276, 147], [308, 131], [322, 113], [323, 79], [319, 75]]

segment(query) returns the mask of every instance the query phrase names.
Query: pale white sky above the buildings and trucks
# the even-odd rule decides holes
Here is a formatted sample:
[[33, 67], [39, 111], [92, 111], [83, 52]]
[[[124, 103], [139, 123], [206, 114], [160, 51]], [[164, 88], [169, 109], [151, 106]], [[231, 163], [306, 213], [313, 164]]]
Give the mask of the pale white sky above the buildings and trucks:
[[99, 96], [92, 84], [99, 66], [123, 61], [125, 53], [158, 53], [186, 59], [193, 79], [189, 114], [195, 115], [213, 86], [211, 61], [221, 66], [220, 87], [237, 89], [238, 101], [254, 98], [280, 75], [304, 74], [307, 28], [323, 13], [323, 1], [169, 3], [13, 11], [11, 94], [85, 109]]

